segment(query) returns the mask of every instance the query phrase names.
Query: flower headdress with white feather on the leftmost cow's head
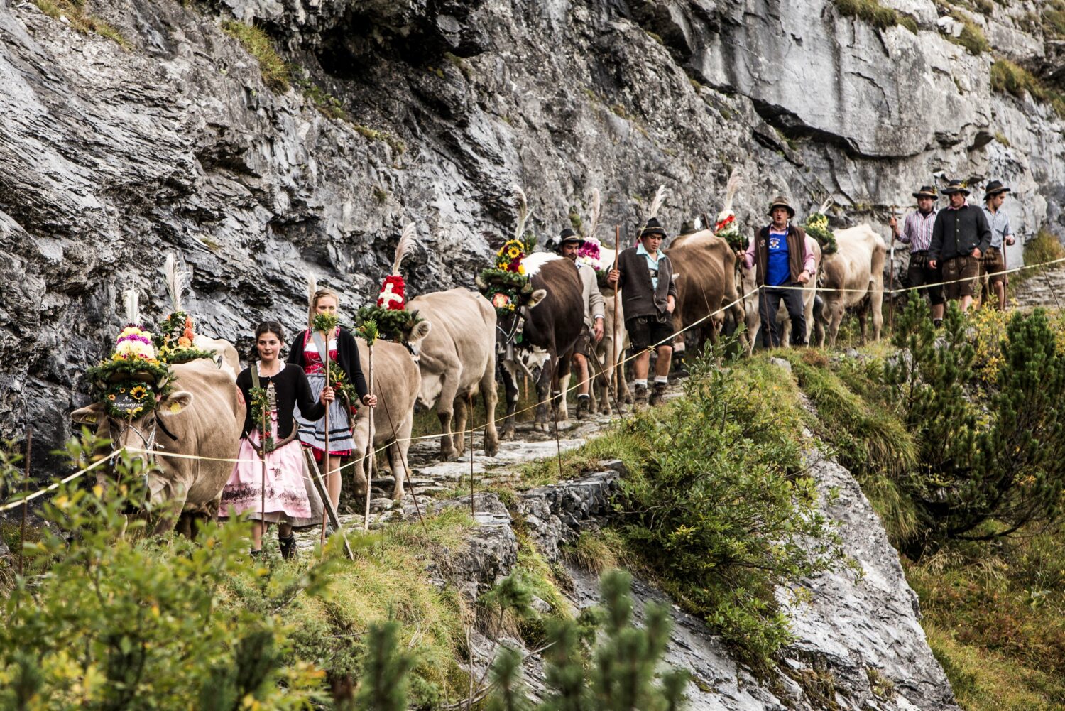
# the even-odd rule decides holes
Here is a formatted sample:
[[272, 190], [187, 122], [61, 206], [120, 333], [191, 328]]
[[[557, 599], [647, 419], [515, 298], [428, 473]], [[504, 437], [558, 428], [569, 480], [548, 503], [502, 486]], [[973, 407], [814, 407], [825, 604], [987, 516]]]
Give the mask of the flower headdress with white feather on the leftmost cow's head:
[[126, 326], [110, 356], [85, 371], [93, 399], [108, 415], [133, 420], [155, 408], [171, 390], [174, 372], [158, 357], [152, 335], [141, 326], [135, 289], [125, 293]]

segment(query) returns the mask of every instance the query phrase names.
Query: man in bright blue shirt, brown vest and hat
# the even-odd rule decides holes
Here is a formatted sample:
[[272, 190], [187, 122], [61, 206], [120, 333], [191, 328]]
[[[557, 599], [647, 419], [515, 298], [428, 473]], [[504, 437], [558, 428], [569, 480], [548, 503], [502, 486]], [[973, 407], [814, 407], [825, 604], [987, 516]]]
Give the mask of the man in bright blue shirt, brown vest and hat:
[[781, 300], [791, 320], [791, 344], [806, 344], [806, 311], [802, 303], [803, 285], [814, 273], [814, 252], [807, 247], [806, 232], [791, 224], [794, 209], [783, 197], [769, 206], [772, 222], [755, 228], [747, 252], [740, 257], [748, 269], [755, 270], [758, 290], [758, 314], [761, 317], [761, 344], [781, 344], [776, 310]]

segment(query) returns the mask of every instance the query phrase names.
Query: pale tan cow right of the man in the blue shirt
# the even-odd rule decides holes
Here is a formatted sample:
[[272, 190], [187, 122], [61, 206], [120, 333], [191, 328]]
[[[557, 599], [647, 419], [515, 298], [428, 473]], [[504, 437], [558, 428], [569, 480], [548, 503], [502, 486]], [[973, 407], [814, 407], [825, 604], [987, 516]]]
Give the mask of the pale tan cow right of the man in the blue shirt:
[[[873, 340], [880, 339], [884, 325], [881, 312], [884, 300], [884, 261], [887, 246], [869, 225], [833, 231], [838, 251], [824, 255], [818, 291], [821, 294], [821, 322], [828, 328], [829, 344], [836, 344], [839, 324], [847, 309], [854, 309], [866, 339], [866, 320], [872, 310]], [[840, 291], [833, 291], [834, 289]], [[818, 329], [820, 345], [824, 334]]]

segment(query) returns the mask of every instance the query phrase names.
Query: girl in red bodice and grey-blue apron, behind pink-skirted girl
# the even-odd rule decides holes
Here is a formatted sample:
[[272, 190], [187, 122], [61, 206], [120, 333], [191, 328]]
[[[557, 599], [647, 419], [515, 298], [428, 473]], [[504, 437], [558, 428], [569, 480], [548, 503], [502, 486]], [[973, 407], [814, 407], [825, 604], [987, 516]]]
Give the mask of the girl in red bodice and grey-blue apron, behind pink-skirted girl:
[[[359, 365], [359, 348], [355, 336], [346, 328], [338, 326], [329, 335], [325, 343], [322, 334], [313, 332], [310, 326], [318, 313], [337, 313], [340, 297], [332, 289], [312, 289], [309, 298], [308, 328], [296, 336], [289, 348], [289, 362], [300, 366], [307, 373], [311, 384], [311, 393], [317, 397], [326, 387], [325, 363], [322, 351], [328, 349], [329, 361], [343, 371], [348, 383], [355, 386], [359, 402], [367, 407], [377, 406], [377, 395], [370, 394], [366, 378], [363, 377]], [[296, 416], [299, 424], [299, 440], [305, 447], [311, 448], [314, 458], [322, 463], [322, 470], [327, 472], [326, 489], [333, 508], [340, 504], [340, 466], [343, 457], [351, 456], [355, 451], [355, 439], [351, 436], [351, 425], [355, 422], [355, 409], [358, 403], [343, 402], [337, 399], [329, 406], [329, 451], [326, 446], [326, 419], [311, 420]]]

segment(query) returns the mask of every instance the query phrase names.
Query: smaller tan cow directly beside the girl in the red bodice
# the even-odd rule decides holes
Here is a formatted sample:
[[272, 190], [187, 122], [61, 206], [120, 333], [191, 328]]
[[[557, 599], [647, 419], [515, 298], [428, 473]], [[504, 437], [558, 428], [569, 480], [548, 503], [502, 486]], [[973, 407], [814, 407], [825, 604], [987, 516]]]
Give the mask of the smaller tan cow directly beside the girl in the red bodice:
[[[422, 322], [419, 326], [423, 326]], [[417, 328], [419, 326], [415, 326]], [[425, 335], [431, 333], [423, 328]], [[422, 336], [424, 338], [424, 335]], [[412, 344], [421, 340], [416, 338]], [[370, 384], [370, 349], [366, 341], [357, 338], [359, 345], [359, 362], [362, 365], [366, 382]], [[366, 492], [365, 468], [370, 458], [367, 450], [376, 450], [388, 445], [389, 459], [395, 485], [392, 488], [392, 499], [399, 501], [404, 495], [404, 479], [407, 475], [407, 450], [410, 449], [410, 433], [414, 425], [414, 401], [422, 385], [422, 375], [414, 358], [406, 346], [392, 341], [378, 340], [374, 343], [374, 381], [372, 391], [377, 394], [377, 407], [360, 407], [355, 418], [354, 439], [355, 451], [351, 453], [355, 465], [356, 492]], [[374, 413], [374, 446], [367, 447], [370, 440], [370, 413]], [[391, 419], [390, 419], [391, 416]], [[395, 429], [393, 429], [393, 426]]]

